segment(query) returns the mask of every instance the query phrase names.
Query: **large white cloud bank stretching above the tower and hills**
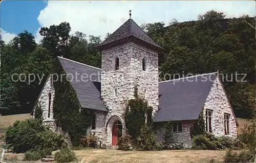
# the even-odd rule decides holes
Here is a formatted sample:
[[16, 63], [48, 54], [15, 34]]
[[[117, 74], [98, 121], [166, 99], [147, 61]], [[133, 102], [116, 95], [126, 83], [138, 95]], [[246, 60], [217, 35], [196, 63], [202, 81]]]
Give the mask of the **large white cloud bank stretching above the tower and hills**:
[[[71, 34], [75, 31], [87, 35], [101, 36], [113, 33], [128, 18], [141, 25], [163, 21], [166, 25], [176, 18], [178, 21], [196, 20], [199, 14], [209, 10], [224, 12], [226, 17], [239, 17], [243, 14], [255, 15], [254, 1], [48, 1], [37, 17], [42, 27], [59, 25], [67, 21]], [[41, 39], [38, 31], [36, 41]]]

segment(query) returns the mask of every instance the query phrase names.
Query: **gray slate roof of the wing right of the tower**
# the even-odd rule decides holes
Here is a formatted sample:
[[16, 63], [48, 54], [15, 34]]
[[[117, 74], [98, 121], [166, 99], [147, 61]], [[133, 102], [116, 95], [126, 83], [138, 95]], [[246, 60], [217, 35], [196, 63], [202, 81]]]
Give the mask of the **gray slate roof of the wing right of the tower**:
[[198, 119], [216, 74], [187, 79], [159, 82], [159, 111], [154, 122]]

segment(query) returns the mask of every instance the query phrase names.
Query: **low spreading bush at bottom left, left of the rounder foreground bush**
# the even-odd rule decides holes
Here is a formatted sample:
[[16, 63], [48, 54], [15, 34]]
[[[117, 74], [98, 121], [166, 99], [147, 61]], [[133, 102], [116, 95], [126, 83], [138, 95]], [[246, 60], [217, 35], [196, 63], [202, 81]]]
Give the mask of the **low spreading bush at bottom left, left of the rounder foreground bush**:
[[36, 161], [38, 159], [44, 158], [47, 155], [51, 155], [51, 149], [40, 149], [40, 150], [29, 150], [25, 153], [25, 160]]

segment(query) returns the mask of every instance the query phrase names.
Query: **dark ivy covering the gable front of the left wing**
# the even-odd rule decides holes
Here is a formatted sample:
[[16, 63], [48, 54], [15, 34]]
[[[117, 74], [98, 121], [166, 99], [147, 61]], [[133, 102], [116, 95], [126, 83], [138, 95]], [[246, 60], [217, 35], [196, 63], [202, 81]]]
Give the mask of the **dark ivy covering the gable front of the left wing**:
[[53, 100], [54, 119], [57, 126], [69, 134], [72, 145], [78, 146], [81, 138], [87, 134], [88, 127], [92, 124], [92, 112], [82, 109], [74, 88], [66, 79], [66, 73], [60, 61], [56, 58], [54, 62], [53, 72], [59, 78], [62, 74], [62, 80], [57, 80], [56, 75], [53, 76], [55, 88]]

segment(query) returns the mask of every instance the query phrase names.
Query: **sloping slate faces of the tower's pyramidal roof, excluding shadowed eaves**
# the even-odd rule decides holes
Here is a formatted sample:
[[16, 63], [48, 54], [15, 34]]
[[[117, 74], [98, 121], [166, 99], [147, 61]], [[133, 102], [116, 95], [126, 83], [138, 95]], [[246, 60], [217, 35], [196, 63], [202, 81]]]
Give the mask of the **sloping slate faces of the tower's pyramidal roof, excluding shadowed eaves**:
[[109, 44], [123, 38], [134, 36], [142, 41], [150, 43], [160, 49], [162, 49], [154, 40], [150, 38], [137, 24], [133, 19], [128, 19], [124, 24], [119, 27], [113, 34], [101, 42], [98, 46]]

